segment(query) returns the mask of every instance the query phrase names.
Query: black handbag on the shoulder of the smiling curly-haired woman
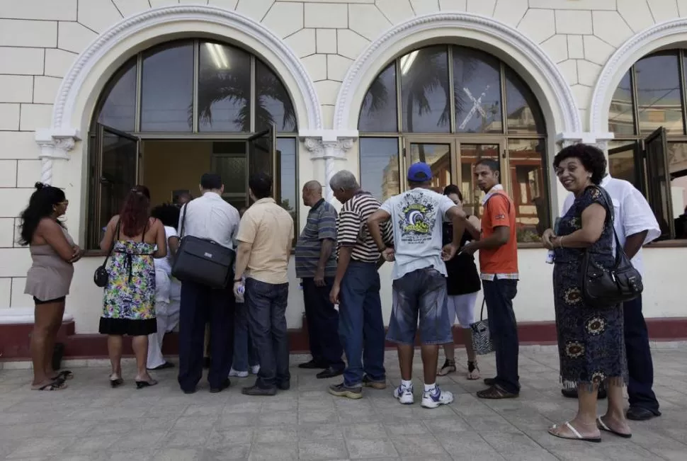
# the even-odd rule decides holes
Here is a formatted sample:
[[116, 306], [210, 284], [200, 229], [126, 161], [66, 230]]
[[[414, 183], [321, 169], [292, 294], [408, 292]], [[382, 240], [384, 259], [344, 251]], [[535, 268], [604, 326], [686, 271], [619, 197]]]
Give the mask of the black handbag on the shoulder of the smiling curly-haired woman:
[[[607, 220], [610, 217], [611, 227], [613, 227], [615, 216], [608, 193], [603, 188], [595, 188], [601, 193], [608, 213]], [[581, 288], [584, 302], [590, 307], [614, 307], [621, 302], [634, 300], [644, 290], [642, 275], [635, 266], [632, 266], [630, 258], [625, 254], [615, 227], [613, 227], [613, 237], [615, 237], [615, 263], [612, 268], [603, 268], [594, 263], [589, 249], [584, 251]]]

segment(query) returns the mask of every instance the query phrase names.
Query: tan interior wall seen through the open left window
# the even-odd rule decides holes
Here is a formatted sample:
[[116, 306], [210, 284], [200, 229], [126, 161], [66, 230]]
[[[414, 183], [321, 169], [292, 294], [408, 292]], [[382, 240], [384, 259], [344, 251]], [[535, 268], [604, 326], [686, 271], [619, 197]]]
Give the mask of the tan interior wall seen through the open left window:
[[144, 141], [142, 183], [152, 205], [170, 202], [173, 190], [198, 197], [200, 176], [210, 171], [212, 141]]

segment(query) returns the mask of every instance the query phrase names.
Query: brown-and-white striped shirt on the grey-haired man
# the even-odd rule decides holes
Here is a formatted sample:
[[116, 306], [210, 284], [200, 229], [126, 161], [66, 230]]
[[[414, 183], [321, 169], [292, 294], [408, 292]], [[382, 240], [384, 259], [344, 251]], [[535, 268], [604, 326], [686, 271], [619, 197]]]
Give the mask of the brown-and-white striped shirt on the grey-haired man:
[[[351, 259], [364, 263], [376, 263], [380, 258], [375, 240], [368, 232], [368, 217], [379, 210], [382, 204], [369, 192], [360, 191], [353, 195], [341, 207], [337, 230], [339, 234], [339, 248], [351, 246], [353, 251]], [[382, 234], [385, 242], [393, 241], [392, 229], [387, 222], [382, 226]]]

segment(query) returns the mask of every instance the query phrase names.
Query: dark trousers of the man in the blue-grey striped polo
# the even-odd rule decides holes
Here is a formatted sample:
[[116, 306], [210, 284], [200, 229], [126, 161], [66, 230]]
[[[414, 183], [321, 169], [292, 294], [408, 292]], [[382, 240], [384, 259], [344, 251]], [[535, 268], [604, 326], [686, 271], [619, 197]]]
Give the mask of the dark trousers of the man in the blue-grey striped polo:
[[312, 359], [336, 370], [344, 369], [344, 348], [339, 340], [339, 312], [329, 301], [334, 278], [324, 279], [324, 286], [315, 285], [314, 278], [303, 278], [303, 300], [307, 321], [308, 342]]

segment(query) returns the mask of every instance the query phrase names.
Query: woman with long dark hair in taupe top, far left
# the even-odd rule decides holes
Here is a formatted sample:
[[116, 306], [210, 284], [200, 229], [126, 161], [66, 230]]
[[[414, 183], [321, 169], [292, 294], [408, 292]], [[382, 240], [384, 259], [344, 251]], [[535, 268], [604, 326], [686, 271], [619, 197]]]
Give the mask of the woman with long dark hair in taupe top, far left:
[[64, 380], [74, 377], [70, 371], [57, 373], [52, 369], [52, 351], [62, 325], [64, 301], [72, 285], [73, 264], [79, 261], [82, 251], [59, 220], [69, 205], [64, 190], [42, 183], [36, 183], [35, 188], [28, 207], [21, 213], [19, 239], [19, 244], [29, 246], [33, 261], [26, 274], [24, 290], [35, 302], [31, 388], [56, 391], [65, 389]]

